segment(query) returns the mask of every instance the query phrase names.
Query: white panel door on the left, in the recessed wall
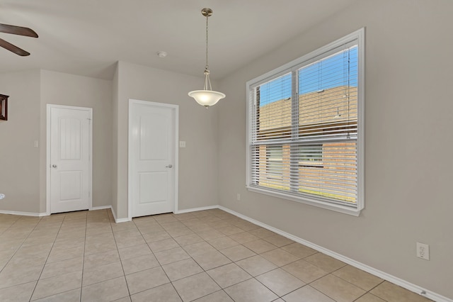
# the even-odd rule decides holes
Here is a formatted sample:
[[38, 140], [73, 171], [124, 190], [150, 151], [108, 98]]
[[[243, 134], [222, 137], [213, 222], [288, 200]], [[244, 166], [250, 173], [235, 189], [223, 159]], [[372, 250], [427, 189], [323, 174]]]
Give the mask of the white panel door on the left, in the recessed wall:
[[91, 208], [91, 108], [47, 105], [50, 213]]

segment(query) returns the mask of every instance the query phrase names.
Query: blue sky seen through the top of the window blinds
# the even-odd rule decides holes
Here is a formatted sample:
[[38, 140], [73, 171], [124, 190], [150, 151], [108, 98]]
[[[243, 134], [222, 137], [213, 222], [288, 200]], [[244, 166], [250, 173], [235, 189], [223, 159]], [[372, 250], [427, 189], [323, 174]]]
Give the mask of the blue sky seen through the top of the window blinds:
[[[348, 53], [346, 52], [347, 56]], [[350, 66], [343, 60], [343, 52], [299, 69], [299, 94], [329, 89], [336, 86], [357, 86], [357, 47], [349, 51]], [[349, 72], [349, 79], [348, 79]], [[260, 106], [291, 97], [291, 74], [260, 85]]]

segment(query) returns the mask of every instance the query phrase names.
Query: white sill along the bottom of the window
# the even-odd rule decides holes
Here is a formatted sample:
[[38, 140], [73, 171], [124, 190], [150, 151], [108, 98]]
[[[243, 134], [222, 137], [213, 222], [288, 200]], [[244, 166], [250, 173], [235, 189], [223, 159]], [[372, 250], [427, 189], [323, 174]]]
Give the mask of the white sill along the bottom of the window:
[[289, 201], [305, 203], [310, 206], [316, 206], [318, 208], [325, 208], [326, 210], [336, 211], [336, 212], [348, 214], [351, 216], [359, 216], [360, 211], [362, 211], [362, 208], [363, 208], [363, 207], [360, 207], [359, 205], [357, 205], [357, 208], [350, 207], [350, 206], [343, 206], [340, 204], [328, 203], [326, 201], [317, 200], [316, 198], [292, 196], [290, 194], [284, 194], [284, 193], [280, 193], [280, 192], [276, 192], [276, 191], [260, 189], [260, 188], [256, 188], [253, 186], [246, 186], [246, 188], [248, 189], [248, 191], [252, 191], [255, 193], [273, 196], [273, 197], [277, 197], [277, 198], [283, 198], [283, 199], [287, 199]]

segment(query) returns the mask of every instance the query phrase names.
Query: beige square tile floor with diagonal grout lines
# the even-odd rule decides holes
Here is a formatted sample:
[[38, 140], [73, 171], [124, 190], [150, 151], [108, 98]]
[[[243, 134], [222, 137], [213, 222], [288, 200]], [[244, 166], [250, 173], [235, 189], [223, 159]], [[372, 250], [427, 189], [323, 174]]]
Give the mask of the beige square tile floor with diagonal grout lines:
[[0, 214], [0, 301], [429, 301], [215, 209]]

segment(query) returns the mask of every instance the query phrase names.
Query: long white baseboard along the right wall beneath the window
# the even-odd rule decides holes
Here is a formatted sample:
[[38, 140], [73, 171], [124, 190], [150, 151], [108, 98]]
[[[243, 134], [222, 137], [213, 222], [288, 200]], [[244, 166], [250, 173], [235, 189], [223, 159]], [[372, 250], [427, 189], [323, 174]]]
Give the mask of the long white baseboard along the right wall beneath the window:
[[369, 267], [368, 265], [366, 264], [363, 264], [361, 262], [357, 262], [355, 261], [354, 259], [350, 259], [348, 257], [345, 257], [343, 255], [340, 255], [338, 254], [337, 252], [333, 252], [331, 250], [328, 250], [324, 247], [321, 247], [319, 245], [315, 245], [314, 243], [312, 242], [309, 242], [309, 241], [306, 241], [302, 238], [299, 238], [299, 237], [296, 237], [294, 235], [291, 235], [289, 233], [286, 233], [282, 230], [279, 230], [277, 228], [274, 228], [270, 225], [266, 225], [265, 223], [261, 223], [260, 221], [258, 220], [255, 220], [253, 218], [249, 218], [247, 216], [244, 216], [240, 213], [236, 213], [235, 211], [231, 211], [229, 208], [224, 208], [223, 206], [217, 206], [217, 208], [225, 211], [225, 212], [228, 212], [234, 216], [237, 216], [239, 218], [242, 218], [243, 220], [247, 220], [248, 222], [251, 222], [251, 223], [254, 223], [256, 225], [259, 225], [260, 227], [262, 228], [265, 228], [267, 230], [271, 230], [273, 231], [274, 233], [277, 233], [279, 235], [282, 235], [284, 237], [287, 237], [291, 240], [294, 240], [295, 242], [299, 242], [301, 243], [302, 245], [306, 245], [307, 247], [311, 247], [312, 249], [314, 250], [317, 250], [319, 252], [322, 252], [323, 254], [326, 254], [328, 256], [331, 256], [335, 259], [338, 259], [340, 261], [343, 261], [347, 264], [350, 264], [352, 267], [357, 267], [357, 269], [362, 269], [362, 271], [365, 271], [365, 272], [368, 272], [369, 274], [372, 274], [374, 276], [378, 276], [379, 278], [381, 279], [384, 279], [386, 281], [389, 281], [393, 284], [396, 284], [398, 286], [401, 286], [403, 287], [404, 289], [408, 289], [409, 291], [413, 291], [414, 293], [418, 293], [420, 296], [424, 296], [426, 298], [430, 298], [431, 300], [433, 301], [437, 301], [437, 302], [453, 302], [452, 299], [450, 298], [447, 298], [445, 296], [442, 296], [438, 293], [434, 293], [432, 291], [429, 291], [428, 289], [423, 289], [423, 287], [420, 287], [420, 286], [417, 286], [415, 284], [412, 284], [411, 282], [408, 282], [406, 280], [403, 280], [403, 279], [400, 279], [396, 276], [392, 276], [391, 274], [387, 274], [386, 272], [382, 272], [380, 271], [379, 269], [374, 269], [374, 267]]

